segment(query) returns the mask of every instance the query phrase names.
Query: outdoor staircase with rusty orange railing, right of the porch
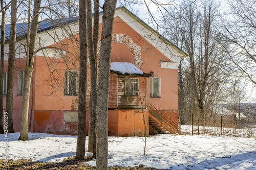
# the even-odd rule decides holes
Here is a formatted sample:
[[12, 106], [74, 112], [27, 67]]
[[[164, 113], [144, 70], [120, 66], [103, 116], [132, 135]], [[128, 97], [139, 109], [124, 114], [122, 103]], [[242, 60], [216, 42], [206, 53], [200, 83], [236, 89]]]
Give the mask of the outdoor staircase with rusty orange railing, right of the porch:
[[156, 104], [147, 99], [146, 106], [149, 110], [148, 124], [159, 133], [179, 134], [179, 123], [160, 109]]

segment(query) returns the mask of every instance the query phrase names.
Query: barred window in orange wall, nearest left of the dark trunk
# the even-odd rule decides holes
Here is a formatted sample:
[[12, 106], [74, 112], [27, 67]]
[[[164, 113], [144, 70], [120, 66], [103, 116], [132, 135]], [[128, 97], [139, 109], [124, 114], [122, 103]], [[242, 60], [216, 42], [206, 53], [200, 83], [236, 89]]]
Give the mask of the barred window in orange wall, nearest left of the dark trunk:
[[78, 94], [78, 72], [67, 70], [65, 72], [65, 95]]

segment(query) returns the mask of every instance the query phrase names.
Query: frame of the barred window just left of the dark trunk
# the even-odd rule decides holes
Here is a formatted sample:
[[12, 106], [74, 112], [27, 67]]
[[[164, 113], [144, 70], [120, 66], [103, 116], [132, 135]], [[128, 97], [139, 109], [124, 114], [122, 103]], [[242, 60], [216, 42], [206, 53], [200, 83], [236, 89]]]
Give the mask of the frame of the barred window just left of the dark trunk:
[[[71, 83], [71, 80], [70, 80], [70, 73], [76, 73], [76, 91], [74, 93], [72, 93], [72, 91], [70, 90], [70, 83]], [[68, 77], [67, 77], [68, 75]], [[65, 87], [64, 87], [64, 95], [71, 95], [71, 96], [75, 96], [75, 95], [78, 95], [78, 85], [79, 85], [79, 71], [77, 70], [66, 70], [65, 71]], [[69, 88], [67, 88], [67, 85]]]

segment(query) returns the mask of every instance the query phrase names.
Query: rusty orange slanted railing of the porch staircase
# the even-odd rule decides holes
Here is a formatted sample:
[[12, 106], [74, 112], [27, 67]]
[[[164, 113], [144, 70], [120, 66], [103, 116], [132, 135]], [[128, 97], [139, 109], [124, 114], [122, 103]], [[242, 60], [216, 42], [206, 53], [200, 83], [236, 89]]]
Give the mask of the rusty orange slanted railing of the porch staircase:
[[172, 118], [149, 99], [147, 99], [146, 106], [148, 110], [150, 110], [149, 116], [154, 119], [159, 125], [161, 125], [172, 134], [179, 134], [179, 123], [177, 122], [177, 120]]

